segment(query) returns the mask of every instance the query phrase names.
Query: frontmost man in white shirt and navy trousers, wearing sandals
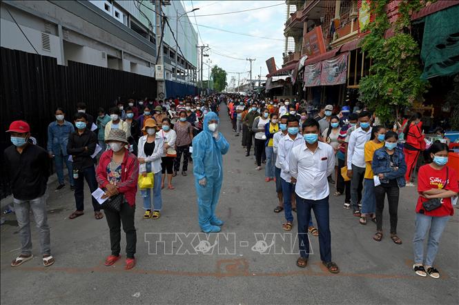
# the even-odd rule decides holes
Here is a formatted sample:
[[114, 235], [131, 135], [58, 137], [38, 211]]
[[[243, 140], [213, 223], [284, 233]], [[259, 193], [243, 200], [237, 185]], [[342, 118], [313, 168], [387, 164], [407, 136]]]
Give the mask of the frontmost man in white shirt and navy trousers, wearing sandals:
[[307, 223], [314, 210], [319, 227], [320, 259], [331, 273], [339, 273], [331, 261], [331, 233], [329, 217], [329, 183], [327, 178], [335, 169], [335, 153], [329, 144], [318, 141], [320, 126], [307, 119], [303, 126], [303, 144], [292, 148], [289, 155], [291, 181], [295, 186], [298, 217], [300, 257], [297, 266], [304, 268], [309, 258]]

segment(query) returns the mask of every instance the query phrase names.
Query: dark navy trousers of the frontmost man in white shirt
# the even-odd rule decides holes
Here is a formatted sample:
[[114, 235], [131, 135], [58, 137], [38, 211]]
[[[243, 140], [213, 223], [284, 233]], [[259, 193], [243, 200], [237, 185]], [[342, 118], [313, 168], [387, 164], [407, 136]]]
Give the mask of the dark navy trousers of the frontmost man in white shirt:
[[298, 245], [301, 257], [309, 257], [309, 237], [306, 219], [311, 218], [311, 208], [319, 228], [319, 248], [322, 262], [331, 262], [331, 233], [329, 197], [320, 200], [303, 199], [296, 196], [298, 217]]

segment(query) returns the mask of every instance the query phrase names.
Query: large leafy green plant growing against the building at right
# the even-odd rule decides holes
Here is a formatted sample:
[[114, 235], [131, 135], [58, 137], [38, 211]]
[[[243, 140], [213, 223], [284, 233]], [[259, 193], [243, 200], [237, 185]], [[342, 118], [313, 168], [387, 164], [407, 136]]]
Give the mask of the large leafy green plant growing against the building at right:
[[[420, 0], [400, 2], [401, 17], [395, 25], [395, 35], [384, 39], [390, 23], [384, 6], [389, 0], [371, 1], [371, 13], [375, 21], [365, 30], [371, 32], [364, 38], [362, 50], [372, 59], [370, 75], [360, 80], [360, 96], [364, 104], [374, 109], [382, 121], [393, 121], [395, 112], [422, 100], [427, 82], [420, 79], [422, 73], [418, 43], [403, 32], [409, 26], [409, 16], [418, 9]], [[407, 14], [407, 19], [404, 14]]]

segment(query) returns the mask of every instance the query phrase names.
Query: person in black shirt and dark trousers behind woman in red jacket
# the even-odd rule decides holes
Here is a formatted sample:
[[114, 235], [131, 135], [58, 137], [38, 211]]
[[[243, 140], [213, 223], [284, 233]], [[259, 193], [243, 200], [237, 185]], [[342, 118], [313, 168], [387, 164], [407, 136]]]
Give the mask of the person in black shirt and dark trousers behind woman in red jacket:
[[[75, 115], [77, 129], [68, 137], [67, 153], [73, 160], [73, 179], [75, 181], [75, 202], [77, 210], [70, 214], [69, 219], [77, 218], [84, 214], [84, 179], [89, 189], [94, 192], [97, 189], [94, 159], [91, 155], [95, 152], [97, 136], [90, 131], [86, 113], [78, 112]], [[104, 214], [100, 211], [100, 204], [91, 196], [92, 206], [96, 219], [102, 219]]]

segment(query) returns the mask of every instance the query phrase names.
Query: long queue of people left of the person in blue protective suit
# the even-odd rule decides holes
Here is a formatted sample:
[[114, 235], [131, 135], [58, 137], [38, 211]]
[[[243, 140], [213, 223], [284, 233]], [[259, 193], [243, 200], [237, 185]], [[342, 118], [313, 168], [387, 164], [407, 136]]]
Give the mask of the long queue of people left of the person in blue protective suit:
[[[153, 109], [154, 113], [151, 111]], [[110, 108], [108, 114], [99, 108], [97, 119], [86, 113], [84, 103], [77, 104], [77, 112], [73, 117], [67, 117], [68, 121], [64, 109], [57, 108], [55, 121], [48, 126], [48, 151], [30, 141], [31, 130], [26, 121], [13, 121], [7, 130], [12, 145], [6, 148], [4, 157], [19, 224], [21, 254], [12, 261], [11, 266], [19, 266], [33, 257], [30, 210], [39, 228], [43, 266], [55, 263], [50, 250], [50, 228], [46, 213], [46, 190], [52, 159], [57, 173], [57, 191], [65, 187], [64, 164], [68, 168], [68, 181], [76, 205], [69, 219], [84, 215], [85, 180], [91, 193], [101, 188], [104, 190], [101, 199], [120, 201], [119, 209], [106, 208], [105, 213], [101, 213], [101, 204], [95, 196], [91, 197], [95, 219], [102, 219], [105, 215], [110, 228], [112, 253], [106, 258], [106, 266], [115, 264], [121, 257], [122, 224], [127, 244], [125, 268], [133, 268], [137, 243], [134, 225], [137, 181], [139, 177], [152, 177], [152, 185], [141, 189], [140, 193], [145, 210], [144, 219], [158, 219], [163, 206], [162, 189], [166, 177], [168, 190], [173, 190], [172, 180], [180, 166], [182, 175], [187, 175], [188, 161], [192, 161], [190, 147], [193, 137], [203, 129], [209, 129], [203, 126], [206, 124], [204, 116], [209, 114], [217, 117], [212, 110], [218, 112], [216, 96], [137, 103], [130, 99], [128, 107], [124, 108], [122, 103], [118, 103]], [[215, 125], [215, 121], [213, 119], [210, 123]], [[215, 130], [213, 135], [223, 141], [222, 135]], [[213, 223], [222, 224], [216, 218]], [[212, 228], [206, 230], [204, 226], [202, 229], [206, 232], [215, 231]]]

